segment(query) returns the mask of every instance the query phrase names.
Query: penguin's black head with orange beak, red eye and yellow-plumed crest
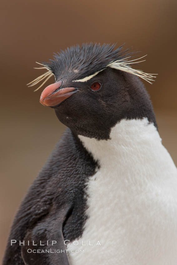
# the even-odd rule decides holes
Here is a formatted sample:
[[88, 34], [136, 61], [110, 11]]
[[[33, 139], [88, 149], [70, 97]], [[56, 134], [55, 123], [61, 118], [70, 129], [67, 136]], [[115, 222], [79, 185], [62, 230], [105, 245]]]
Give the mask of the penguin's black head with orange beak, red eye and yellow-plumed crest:
[[151, 82], [153, 75], [132, 69], [127, 57], [122, 46], [114, 50], [114, 45], [99, 44], [55, 54], [42, 63], [48, 71], [37, 81], [54, 75], [56, 82], [43, 90], [40, 102], [54, 108], [61, 123], [77, 135], [98, 140], [109, 139], [121, 119], [146, 117], [156, 125], [149, 96], [137, 77]]

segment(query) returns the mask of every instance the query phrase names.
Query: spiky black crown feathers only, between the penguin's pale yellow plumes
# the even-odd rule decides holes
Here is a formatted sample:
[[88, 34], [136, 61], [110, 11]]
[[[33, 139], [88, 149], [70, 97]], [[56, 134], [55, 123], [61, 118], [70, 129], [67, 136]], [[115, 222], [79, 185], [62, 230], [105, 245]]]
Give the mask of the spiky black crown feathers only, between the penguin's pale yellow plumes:
[[[72, 80], [82, 79], [103, 70], [112, 61], [125, 58], [130, 49], [122, 51], [123, 45], [114, 50], [115, 44], [85, 43], [71, 46], [54, 54], [54, 59], [42, 62], [54, 74], [56, 80], [68, 76]], [[132, 53], [131, 53], [132, 54]]]

